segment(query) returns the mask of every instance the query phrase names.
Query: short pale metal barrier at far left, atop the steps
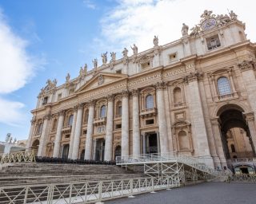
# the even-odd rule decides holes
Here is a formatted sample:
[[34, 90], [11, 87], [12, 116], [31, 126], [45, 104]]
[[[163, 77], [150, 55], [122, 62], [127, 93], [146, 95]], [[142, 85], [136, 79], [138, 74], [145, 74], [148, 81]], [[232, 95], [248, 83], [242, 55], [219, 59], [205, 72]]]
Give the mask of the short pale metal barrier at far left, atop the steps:
[[35, 162], [34, 151], [22, 151], [0, 155], [0, 163], [27, 163]]

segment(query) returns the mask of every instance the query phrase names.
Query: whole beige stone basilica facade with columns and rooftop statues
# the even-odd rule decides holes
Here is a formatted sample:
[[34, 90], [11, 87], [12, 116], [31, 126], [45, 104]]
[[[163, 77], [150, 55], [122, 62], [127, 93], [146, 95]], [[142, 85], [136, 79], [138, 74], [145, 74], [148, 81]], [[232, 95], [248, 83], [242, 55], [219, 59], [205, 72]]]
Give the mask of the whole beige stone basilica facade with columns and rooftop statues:
[[256, 147], [256, 45], [233, 11], [205, 10], [181, 38], [102, 65], [57, 86], [47, 80], [32, 111], [27, 148], [38, 156], [114, 160], [174, 151], [211, 167], [252, 158]]

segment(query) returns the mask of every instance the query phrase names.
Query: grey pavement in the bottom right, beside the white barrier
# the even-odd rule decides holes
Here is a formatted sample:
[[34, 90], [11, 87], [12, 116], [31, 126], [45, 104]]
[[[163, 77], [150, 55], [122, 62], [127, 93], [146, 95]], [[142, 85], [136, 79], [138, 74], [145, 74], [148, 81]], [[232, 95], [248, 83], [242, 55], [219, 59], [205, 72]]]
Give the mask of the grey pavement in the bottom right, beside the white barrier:
[[206, 182], [156, 194], [140, 194], [135, 198], [120, 198], [105, 204], [255, 204], [256, 184]]

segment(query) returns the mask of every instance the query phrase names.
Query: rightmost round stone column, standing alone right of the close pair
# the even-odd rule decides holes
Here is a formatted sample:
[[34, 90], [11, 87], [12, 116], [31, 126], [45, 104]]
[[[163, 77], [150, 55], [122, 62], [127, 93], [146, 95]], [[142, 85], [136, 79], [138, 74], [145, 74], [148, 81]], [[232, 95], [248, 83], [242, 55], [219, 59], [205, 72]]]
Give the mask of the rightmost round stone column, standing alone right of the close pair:
[[163, 97], [163, 88], [165, 88], [165, 84], [158, 82], [158, 84], [156, 84], [156, 88], [157, 88], [160, 151], [161, 153], [166, 153], [169, 151], [169, 148], [168, 148], [168, 138], [167, 138], [168, 132], [167, 132], [167, 124], [166, 124], [165, 100]]

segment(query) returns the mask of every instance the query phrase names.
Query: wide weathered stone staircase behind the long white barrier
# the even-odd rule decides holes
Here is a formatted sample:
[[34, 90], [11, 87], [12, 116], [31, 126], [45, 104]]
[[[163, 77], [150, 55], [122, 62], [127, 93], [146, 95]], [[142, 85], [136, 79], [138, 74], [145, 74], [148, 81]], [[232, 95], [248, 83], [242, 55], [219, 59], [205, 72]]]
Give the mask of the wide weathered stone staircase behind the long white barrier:
[[115, 165], [82, 165], [73, 163], [12, 163], [2, 167], [0, 186], [82, 182], [145, 177], [138, 171]]

